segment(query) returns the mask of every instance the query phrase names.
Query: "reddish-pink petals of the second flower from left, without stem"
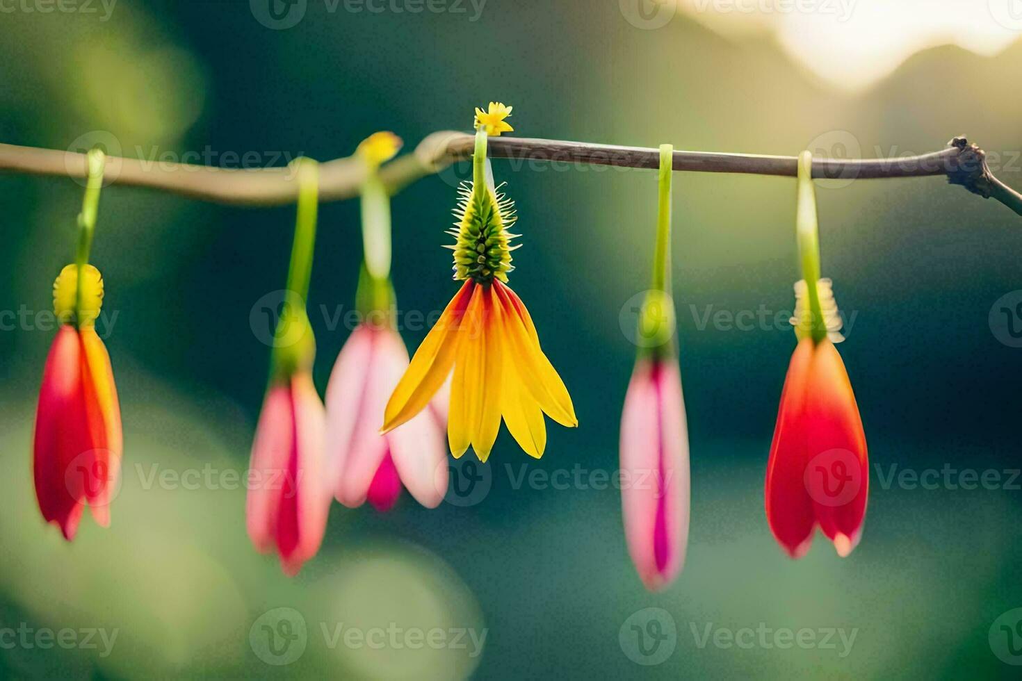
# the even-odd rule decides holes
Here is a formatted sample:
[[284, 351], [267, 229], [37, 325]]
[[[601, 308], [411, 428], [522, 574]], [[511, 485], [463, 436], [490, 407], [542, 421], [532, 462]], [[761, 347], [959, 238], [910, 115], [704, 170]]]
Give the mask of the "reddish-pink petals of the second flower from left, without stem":
[[263, 553], [276, 548], [289, 577], [316, 555], [326, 530], [323, 430], [323, 403], [308, 370], [271, 385], [249, 464], [248, 536]]

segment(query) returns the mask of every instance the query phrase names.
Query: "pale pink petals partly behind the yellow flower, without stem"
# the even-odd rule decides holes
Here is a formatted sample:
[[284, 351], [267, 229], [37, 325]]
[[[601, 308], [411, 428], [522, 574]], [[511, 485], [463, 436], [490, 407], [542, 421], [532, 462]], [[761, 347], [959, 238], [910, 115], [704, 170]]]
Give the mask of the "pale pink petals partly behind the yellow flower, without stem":
[[444, 412], [423, 409], [386, 435], [379, 433], [387, 399], [406, 369], [408, 349], [385, 326], [361, 325], [337, 355], [326, 390], [327, 455], [337, 500], [345, 506], [368, 498], [377, 510], [388, 510], [402, 485], [428, 508], [444, 499]]

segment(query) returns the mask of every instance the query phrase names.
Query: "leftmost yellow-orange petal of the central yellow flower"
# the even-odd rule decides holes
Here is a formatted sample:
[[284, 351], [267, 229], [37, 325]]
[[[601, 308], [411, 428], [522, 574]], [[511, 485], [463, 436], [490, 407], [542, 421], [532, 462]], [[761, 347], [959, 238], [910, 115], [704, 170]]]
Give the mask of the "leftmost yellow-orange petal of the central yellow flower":
[[393, 430], [412, 419], [425, 408], [429, 399], [444, 385], [454, 364], [459, 327], [474, 288], [476, 286], [473, 282], [465, 282], [415, 351], [412, 362], [387, 401], [381, 432]]

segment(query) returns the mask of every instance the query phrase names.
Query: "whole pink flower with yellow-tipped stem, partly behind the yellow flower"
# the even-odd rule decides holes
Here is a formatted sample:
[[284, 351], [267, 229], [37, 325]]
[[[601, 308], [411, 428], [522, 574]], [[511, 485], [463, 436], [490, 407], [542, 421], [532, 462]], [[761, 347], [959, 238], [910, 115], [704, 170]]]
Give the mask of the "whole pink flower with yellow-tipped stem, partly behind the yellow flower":
[[444, 418], [431, 406], [386, 435], [379, 432], [387, 397], [408, 369], [408, 350], [396, 329], [390, 283], [389, 197], [376, 168], [397, 153], [392, 133], [375, 133], [359, 145], [369, 175], [362, 188], [365, 262], [356, 304], [361, 322], [334, 364], [326, 390], [327, 457], [338, 501], [377, 510], [397, 503], [408, 487], [420, 503], [434, 507], [448, 486]]

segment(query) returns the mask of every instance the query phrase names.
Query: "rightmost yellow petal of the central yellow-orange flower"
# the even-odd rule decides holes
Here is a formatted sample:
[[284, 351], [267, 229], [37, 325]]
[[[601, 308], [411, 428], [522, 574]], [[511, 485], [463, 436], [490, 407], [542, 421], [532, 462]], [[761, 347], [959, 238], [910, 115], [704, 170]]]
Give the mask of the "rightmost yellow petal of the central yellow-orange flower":
[[521, 382], [551, 419], [562, 426], [574, 428], [578, 425], [578, 419], [575, 417], [571, 396], [550, 359], [540, 348], [536, 327], [528, 318], [525, 305], [506, 286], [500, 285], [498, 292], [507, 313], [507, 323], [504, 325], [506, 339], [518, 358], [518, 376]]

